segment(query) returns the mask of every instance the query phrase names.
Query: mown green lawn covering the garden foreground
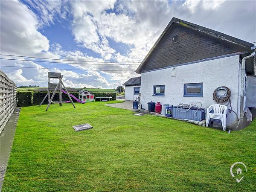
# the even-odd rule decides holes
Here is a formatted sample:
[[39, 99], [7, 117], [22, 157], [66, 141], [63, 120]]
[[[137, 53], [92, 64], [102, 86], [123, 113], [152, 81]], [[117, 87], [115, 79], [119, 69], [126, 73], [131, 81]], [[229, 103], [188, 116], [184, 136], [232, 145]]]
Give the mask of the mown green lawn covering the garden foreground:
[[[22, 108], [3, 192], [255, 190], [255, 120], [227, 134], [104, 104]], [[75, 132], [82, 123], [93, 129]]]

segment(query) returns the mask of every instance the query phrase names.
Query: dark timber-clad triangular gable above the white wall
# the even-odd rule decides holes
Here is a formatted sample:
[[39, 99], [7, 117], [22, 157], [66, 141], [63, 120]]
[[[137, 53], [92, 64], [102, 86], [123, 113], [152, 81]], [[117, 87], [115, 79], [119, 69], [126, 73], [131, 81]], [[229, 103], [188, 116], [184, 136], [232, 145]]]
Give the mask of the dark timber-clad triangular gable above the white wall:
[[[172, 43], [179, 34], [178, 43]], [[244, 47], [173, 23], [143, 64], [140, 73], [244, 51]]]

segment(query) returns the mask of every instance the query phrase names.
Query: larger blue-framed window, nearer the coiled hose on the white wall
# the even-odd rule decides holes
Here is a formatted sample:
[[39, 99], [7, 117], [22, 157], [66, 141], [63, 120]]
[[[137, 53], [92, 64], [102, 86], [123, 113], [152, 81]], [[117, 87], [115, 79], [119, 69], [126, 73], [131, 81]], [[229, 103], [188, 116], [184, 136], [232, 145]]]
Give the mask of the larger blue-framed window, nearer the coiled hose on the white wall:
[[203, 83], [184, 84], [184, 96], [202, 97], [203, 96]]

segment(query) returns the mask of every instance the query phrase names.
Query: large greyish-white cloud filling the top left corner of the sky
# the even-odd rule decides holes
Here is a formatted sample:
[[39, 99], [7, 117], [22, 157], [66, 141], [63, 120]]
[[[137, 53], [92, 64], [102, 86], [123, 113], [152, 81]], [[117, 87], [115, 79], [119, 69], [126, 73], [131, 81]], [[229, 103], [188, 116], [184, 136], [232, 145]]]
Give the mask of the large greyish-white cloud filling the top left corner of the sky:
[[37, 54], [49, 50], [49, 40], [38, 32], [36, 15], [19, 1], [0, 1], [0, 51]]

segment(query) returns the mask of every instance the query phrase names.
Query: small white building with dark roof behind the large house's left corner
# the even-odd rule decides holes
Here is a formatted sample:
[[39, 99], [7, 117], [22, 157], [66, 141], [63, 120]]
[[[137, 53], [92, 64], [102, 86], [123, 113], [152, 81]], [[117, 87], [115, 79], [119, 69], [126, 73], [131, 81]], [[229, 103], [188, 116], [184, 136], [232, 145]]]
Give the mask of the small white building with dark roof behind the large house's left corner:
[[136, 101], [140, 93], [140, 77], [134, 77], [126, 81], [125, 100]]

